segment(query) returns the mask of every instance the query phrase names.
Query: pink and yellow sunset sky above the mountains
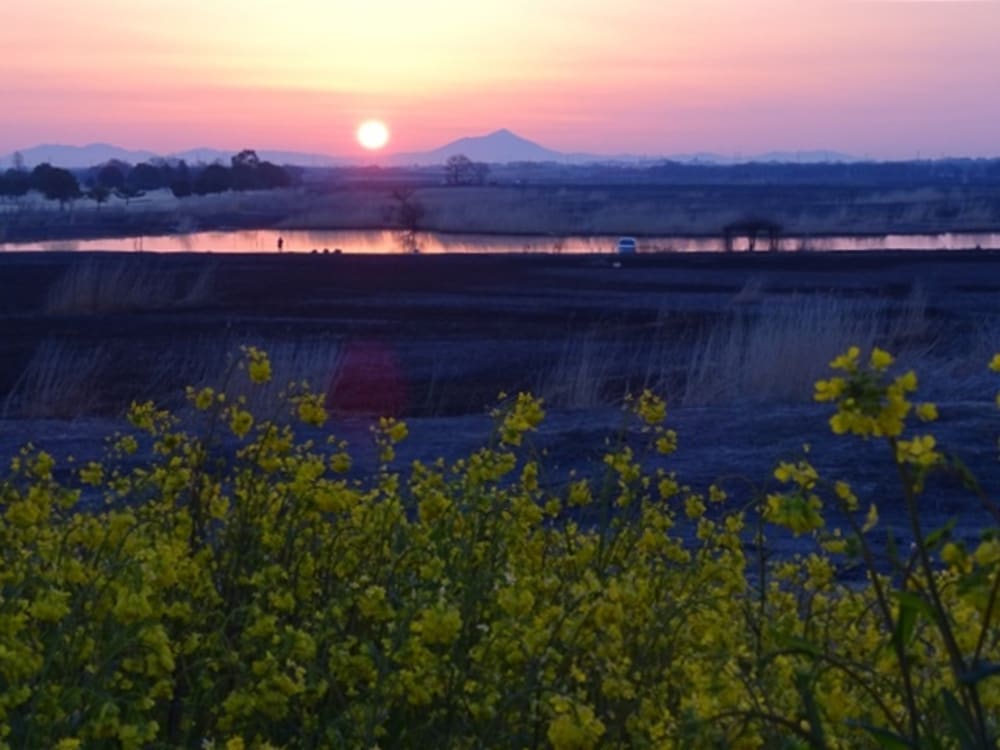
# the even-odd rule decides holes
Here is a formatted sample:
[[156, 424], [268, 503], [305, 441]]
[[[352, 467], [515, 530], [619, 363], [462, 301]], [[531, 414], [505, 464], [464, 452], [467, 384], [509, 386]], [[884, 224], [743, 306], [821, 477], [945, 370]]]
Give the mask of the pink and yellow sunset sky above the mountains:
[[1000, 156], [1000, 0], [3, 0], [0, 154]]

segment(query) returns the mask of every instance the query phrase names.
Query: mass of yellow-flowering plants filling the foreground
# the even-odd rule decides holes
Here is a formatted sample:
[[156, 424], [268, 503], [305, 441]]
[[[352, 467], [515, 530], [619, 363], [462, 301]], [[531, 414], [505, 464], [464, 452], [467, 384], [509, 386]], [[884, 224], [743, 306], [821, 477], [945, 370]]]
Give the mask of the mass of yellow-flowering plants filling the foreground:
[[[912, 551], [877, 559], [875, 506], [805, 459], [744, 507], [684, 486], [649, 392], [601, 470], [564, 482], [529, 450], [526, 394], [491, 446], [405, 472], [404, 424], [377, 424], [361, 474], [294, 388], [313, 439], [205, 387], [187, 424], [134, 405], [72, 481], [26, 448], [0, 485], [0, 741], [993, 747], [1000, 541], [964, 549], [917, 507], [931, 472], [980, 490], [915, 431], [936, 414], [913, 373], [877, 349], [833, 364], [816, 396], [835, 432], [891, 451]], [[270, 378], [260, 350], [242, 366]], [[771, 559], [765, 531], [815, 551]]]

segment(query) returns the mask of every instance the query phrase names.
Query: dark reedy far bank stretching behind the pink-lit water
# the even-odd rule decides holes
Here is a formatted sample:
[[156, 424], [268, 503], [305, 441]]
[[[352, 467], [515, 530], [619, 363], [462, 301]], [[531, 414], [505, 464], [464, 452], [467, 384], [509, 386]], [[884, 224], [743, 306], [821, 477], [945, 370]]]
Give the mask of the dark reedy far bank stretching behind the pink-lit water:
[[1000, 188], [808, 185], [324, 184], [127, 203], [0, 206], [0, 243], [237, 229], [418, 229], [444, 233], [718, 238], [747, 223], [778, 237], [1000, 230]]

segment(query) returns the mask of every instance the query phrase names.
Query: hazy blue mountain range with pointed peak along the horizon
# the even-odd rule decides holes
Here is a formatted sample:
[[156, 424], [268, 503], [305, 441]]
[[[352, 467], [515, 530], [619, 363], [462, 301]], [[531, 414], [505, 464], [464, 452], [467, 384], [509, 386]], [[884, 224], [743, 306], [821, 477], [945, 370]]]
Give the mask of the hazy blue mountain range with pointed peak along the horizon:
[[[109, 143], [91, 143], [86, 146], [65, 146], [44, 144], [22, 149], [21, 158], [25, 166], [31, 168], [37, 164], [48, 162], [59, 167], [80, 169], [92, 167], [117, 159], [119, 161], [137, 164], [151, 159], [183, 159], [187, 162], [212, 163], [228, 162], [235, 153], [217, 148], [193, 148], [168, 154], [157, 154], [153, 151], [130, 150]], [[451, 156], [463, 154], [473, 161], [491, 164], [508, 162], [554, 162], [557, 164], [590, 164], [590, 163], [653, 163], [659, 161], [679, 161], [699, 164], [739, 164], [745, 162], [849, 162], [857, 161], [854, 157], [836, 151], [771, 151], [755, 156], [723, 156], [710, 152], [692, 154], [677, 154], [671, 156], [636, 155], [636, 154], [586, 154], [555, 151], [550, 148], [522, 138], [510, 130], [496, 130], [492, 133], [468, 138], [459, 138], [431, 151], [414, 151], [408, 153], [373, 154], [367, 159], [348, 159], [328, 154], [303, 153], [299, 151], [259, 150], [261, 159], [276, 164], [292, 164], [305, 167], [337, 167], [352, 164], [379, 164], [382, 166], [425, 166], [442, 164]], [[14, 154], [0, 156], [0, 168], [13, 164]]]

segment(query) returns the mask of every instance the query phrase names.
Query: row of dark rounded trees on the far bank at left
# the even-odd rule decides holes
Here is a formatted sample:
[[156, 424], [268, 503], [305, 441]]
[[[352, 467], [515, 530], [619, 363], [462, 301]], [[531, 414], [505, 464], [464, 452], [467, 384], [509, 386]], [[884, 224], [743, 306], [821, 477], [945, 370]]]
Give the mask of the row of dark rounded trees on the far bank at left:
[[79, 198], [98, 205], [112, 195], [126, 202], [151, 190], [169, 189], [174, 196], [209, 195], [227, 190], [269, 190], [289, 187], [296, 175], [289, 169], [261, 160], [245, 149], [220, 163], [190, 166], [185, 161], [141, 162], [131, 165], [112, 160], [84, 170], [39, 164], [30, 171], [15, 158], [12, 168], [0, 173], [0, 197], [17, 199], [37, 192], [65, 206]]

